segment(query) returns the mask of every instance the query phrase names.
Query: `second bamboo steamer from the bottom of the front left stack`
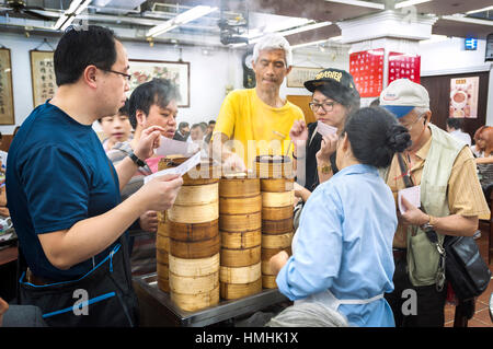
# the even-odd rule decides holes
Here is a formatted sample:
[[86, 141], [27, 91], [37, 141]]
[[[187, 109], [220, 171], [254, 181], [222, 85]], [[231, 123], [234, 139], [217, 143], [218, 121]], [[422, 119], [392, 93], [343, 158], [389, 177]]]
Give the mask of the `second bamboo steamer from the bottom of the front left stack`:
[[219, 286], [219, 271], [200, 277], [183, 277], [170, 271], [170, 291], [181, 294], [198, 294]]

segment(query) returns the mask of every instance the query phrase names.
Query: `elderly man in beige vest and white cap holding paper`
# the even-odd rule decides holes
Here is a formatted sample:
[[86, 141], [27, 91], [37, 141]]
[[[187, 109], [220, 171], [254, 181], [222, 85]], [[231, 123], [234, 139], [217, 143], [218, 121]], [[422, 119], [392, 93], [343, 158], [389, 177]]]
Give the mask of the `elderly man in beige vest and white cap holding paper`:
[[395, 80], [380, 94], [380, 106], [395, 115], [412, 140], [400, 154], [401, 165], [397, 154], [385, 179], [398, 198], [399, 190], [406, 187], [403, 179], [408, 174], [411, 186], [420, 188], [421, 201], [420, 209], [401, 199], [404, 212], [398, 209], [393, 239], [394, 291], [386, 298], [397, 326], [444, 326], [447, 284], [439, 254], [425, 230], [433, 228], [439, 243], [445, 235], [471, 236], [478, 230], [478, 217], [488, 216], [489, 207], [469, 148], [431, 124], [426, 89], [408, 79]]

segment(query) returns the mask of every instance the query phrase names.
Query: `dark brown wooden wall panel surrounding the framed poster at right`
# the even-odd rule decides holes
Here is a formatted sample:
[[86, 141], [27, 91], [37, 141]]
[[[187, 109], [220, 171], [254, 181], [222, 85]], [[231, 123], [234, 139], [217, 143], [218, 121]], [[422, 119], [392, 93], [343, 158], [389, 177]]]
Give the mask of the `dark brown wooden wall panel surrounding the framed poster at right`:
[[446, 129], [450, 100], [450, 79], [479, 77], [478, 118], [465, 118], [463, 131], [472, 137], [478, 128], [486, 123], [488, 82], [489, 71], [471, 72], [463, 74], [449, 74], [436, 77], [421, 77], [421, 84], [428, 91], [429, 108], [432, 109], [432, 123], [442, 129]]

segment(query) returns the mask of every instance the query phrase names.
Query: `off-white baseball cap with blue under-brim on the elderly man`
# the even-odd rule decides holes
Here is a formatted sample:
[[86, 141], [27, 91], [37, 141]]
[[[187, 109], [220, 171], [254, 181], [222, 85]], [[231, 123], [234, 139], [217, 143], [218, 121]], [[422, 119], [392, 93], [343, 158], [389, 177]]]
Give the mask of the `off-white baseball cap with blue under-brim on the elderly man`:
[[380, 93], [380, 106], [400, 118], [415, 107], [429, 108], [429, 95], [421, 84], [409, 79], [399, 79]]

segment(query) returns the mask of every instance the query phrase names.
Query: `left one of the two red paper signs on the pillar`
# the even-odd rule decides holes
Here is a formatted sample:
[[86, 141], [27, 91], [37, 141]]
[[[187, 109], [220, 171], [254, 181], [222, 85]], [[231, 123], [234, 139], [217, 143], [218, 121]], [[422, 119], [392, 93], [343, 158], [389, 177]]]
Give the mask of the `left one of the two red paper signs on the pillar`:
[[383, 48], [349, 55], [349, 72], [362, 97], [378, 97], [383, 88]]

